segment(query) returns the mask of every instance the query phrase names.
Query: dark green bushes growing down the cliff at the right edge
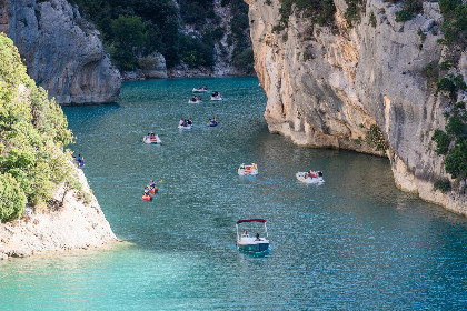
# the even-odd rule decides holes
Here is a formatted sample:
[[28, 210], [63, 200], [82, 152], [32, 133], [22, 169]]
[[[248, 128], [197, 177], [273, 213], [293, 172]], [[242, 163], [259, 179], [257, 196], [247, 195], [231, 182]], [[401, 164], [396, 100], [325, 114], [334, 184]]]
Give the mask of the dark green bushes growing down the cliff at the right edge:
[[[467, 47], [467, 4], [461, 0], [440, 0], [439, 8], [444, 17], [441, 24], [444, 39], [439, 42], [446, 46], [446, 54], [439, 66], [439, 62], [430, 62], [424, 68], [423, 73], [427, 78], [428, 87], [436, 83], [435, 94], [445, 94], [449, 100], [449, 108], [444, 113], [447, 118], [446, 132], [436, 129], [431, 140], [436, 142], [436, 153], [446, 156], [445, 170], [455, 179], [454, 187], [456, 187], [460, 184], [460, 180], [467, 178], [466, 106], [463, 101], [456, 102], [459, 91], [465, 91], [467, 84], [463, 74], [454, 73], [459, 61], [458, 51]], [[434, 189], [446, 192], [451, 189], [451, 184], [448, 180], [436, 181]], [[465, 189], [459, 193], [465, 193]]]

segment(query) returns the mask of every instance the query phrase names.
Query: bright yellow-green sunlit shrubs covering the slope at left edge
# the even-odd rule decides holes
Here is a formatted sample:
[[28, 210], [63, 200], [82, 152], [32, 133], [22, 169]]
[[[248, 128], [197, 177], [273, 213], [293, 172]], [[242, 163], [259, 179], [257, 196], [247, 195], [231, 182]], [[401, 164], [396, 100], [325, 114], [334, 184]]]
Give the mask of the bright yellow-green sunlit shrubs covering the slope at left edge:
[[0, 34], [0, 221], [30, 203], [43, 207], [69, 175], [71, 131], [61, 108], [26, 73], [13, 42]]

